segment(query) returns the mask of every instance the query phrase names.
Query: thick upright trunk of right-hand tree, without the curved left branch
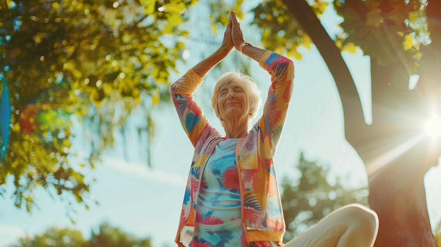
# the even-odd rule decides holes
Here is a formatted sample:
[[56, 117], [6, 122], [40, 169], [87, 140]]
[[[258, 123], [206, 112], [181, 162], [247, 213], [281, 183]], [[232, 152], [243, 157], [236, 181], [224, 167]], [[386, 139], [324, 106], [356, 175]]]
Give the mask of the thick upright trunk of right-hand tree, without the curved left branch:
[[[437, 246], [423, 180], [426, 172], [438, 164], [440, 142], [430, 140], [422, 124], [429, 118], [430, 109], [441, 102], [440, 10], [439, 1], [429, 2], [432, 44], [422, 48], [420, 80], [415, 90], [408, 90], [407, 77], [395, 66], [399, 60], [389, 67], [371, 62], [373, 124], [369, 142], [388, 144], [371, 145], [377, 148], [370, 153], [359, 152], [368, 171], [370, 208], [380, 221], [374, 247]], [[409, 141], [412, 138], [414, 142]], [[406, 142], [408, 145], [402, 145]], [[385, 159], [379, 161], [381, 158]]]

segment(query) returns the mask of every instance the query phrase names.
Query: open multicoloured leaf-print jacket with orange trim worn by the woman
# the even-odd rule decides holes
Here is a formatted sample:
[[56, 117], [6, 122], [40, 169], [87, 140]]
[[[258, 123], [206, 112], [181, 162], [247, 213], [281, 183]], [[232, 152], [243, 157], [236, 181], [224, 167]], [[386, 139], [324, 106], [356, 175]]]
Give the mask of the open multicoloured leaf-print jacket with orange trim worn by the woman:
[[[284, 246], [285, 222], [273, 157], [291, 99], [294, 64], [285, 56], [266, 51], [259, 65], [271, 75], [263, 116], [236, 146], [242, 225], [247, 243], [276, 241], [278, 246]], [[194, 101], [193, 94], [202, 81], [190, 69], [170, 87], [179, 120], [195, 148], [175, 239], [179, 247], [188, 247], [193, 238], [198, 192], [207, 158], [217, 143], [226, 138], [208, 123]]]

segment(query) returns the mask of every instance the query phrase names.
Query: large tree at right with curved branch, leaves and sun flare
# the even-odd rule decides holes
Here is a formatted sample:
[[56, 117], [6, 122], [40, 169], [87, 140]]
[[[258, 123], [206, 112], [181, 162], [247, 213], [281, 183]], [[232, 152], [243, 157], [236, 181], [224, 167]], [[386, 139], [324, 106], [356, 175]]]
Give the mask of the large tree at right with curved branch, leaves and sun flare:
[[[423, 178], [438, 164], [441, 105], [441, 2], [437, 0], [333, 1], [343, 32], [329, 37], [322, 0], [264, 0], [252, 23], [262, 44], [296, 59], [313, 42], [334, 77], [344, 111], [345, 137], [365, 163], [370, 208], [380, 226], [376, 246], [435, 246]], [[341, 52], [362, 49], [371, 58], [372, 124], [366, 124], [354, 80]], [[419, 75], [415, 89], [409, 78]], [[438, 129], [436, 129], [438, 128]], [[436, 134], [436, 133], [435, 133]], [[409, 186], [412, 181], [412, 186]], [[415, 229], [419, 229], [415, 231]]]

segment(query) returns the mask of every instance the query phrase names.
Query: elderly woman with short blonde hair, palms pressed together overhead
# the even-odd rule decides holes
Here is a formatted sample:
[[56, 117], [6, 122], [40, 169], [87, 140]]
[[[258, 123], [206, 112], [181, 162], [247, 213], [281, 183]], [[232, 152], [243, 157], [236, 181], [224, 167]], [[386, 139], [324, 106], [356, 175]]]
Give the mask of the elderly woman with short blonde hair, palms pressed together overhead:
[[[256, 82], [239, 72], [222, 74], [211, 105], [225, 136], [194, 101], [205, 75], [238, 49], [271, 75], [263, 116]], [[360, 204], [337, 209], [306, 232], [282, 243], [285, 222], [273, 158], [292, 94], [292, 60], [243, 40], [233, 11], [220, 49], [170, 87], [179, 120], [193, 144], [187, 188], [175, 242], [179, 247], [372, 247], [377, 214]]]

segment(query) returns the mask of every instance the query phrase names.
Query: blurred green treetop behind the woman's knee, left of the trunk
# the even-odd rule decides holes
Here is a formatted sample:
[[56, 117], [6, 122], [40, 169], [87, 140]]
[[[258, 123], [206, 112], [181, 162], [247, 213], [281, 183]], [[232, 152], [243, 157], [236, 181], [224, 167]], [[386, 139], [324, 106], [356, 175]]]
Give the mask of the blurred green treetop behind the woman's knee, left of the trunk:
[[[336, 178], [335, 185], [330, 184], [329, 168], [318, 165], [315, 161], [307, 161], [300, 154], [299, 180], [284, 177], [281, 187], [282, 208], [287, 226], [284, 242], [288, 242], [315, 225], [327, 214], [350, 203], [368, 206], [367, 187], [347, 190]], [[369, 207], [369, 206], [368, 206]]]

